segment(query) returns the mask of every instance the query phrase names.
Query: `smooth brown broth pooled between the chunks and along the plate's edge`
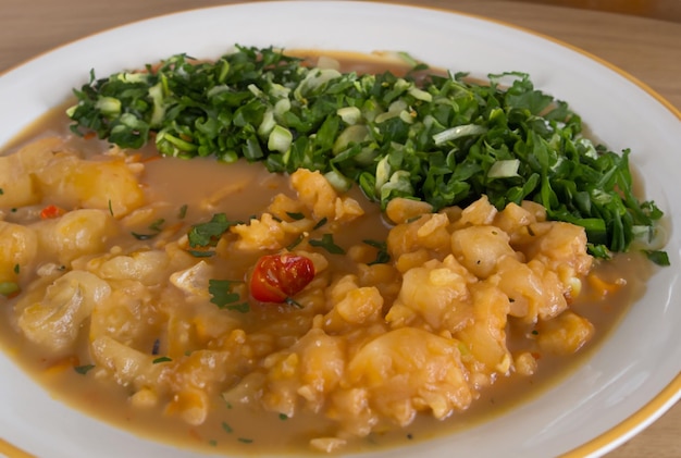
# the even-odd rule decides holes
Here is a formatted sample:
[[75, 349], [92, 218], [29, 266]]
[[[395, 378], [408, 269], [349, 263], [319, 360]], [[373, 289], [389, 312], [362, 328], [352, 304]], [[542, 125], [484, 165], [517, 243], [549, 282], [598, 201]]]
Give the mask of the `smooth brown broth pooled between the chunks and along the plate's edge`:
[[[346, 62], [347, 63], [347, 62]], [[356, 62], [350, 66], [357, 67]], [[375, 71], [374, 66], [362, 67]], [[382, 67], [385, 70], [385, 67]], [[41, 119], [15, 140], [11, 150], [46, 132], [65, 135], [66, 121], [62, 110]], [[74, 148], [102, 148], [97, 140], [73, 138]], [[95, 145], [92, 147], [92, 145]], [[187, 222], [196, 222], [206, 213], [195, 210], [207, 196], [215, 196], [212, 212], [225, 212], [230, 219], [248, 219], [259, 214], [276, 193], [292, 193], [284, 176], [269, 174], [261, 164], [222, 164], [210, 159], [162, 159], [146, 164], [144, 183], [149, 201], [157, 202], [163, 218], [175, 218], [178, 209], [187, 205]], [[357, 189], [354, 196], [362, 199]], [[380, 211], [372, 205], [362, 205], [370, 213], [350, 230], [344, 232], [342, 243], [361, 242], [362, 238], [385, 238], [387, 226]], [[560, 383], [575, 368], [583, 364], [607, 338], [612, 327], [627, 312], [631, 304], [641, 297], [651, 269], [642, 269], [649, 262], [637, 255], [619, 255], [610, 262], [595, 267], [605, 278], [626, 278], [627, 285], [606, 300], [592, 299], [595, 293], [585, 284], [584, 290], [573, 309], [587, 318], [596, 327], [596, 336], [578, 355], [570, 357], [543, 357], [540, 369], [532, 377], [513, 376], [498, 380], [483, 392], [482, 397], [462, 413], [437, 421], [430, 416], [419, 417], [405, 430], [393, 430], [385, 434], [372, 434], [358, 440], [344, 451], [370, 451], [382, 447], [395, 447], [463, 431], [495, 416], [507, 412], [520, 404], [541, 396], [547, 388]], [[164, 416], [159, 409], [136, 409], [128, 403], [126, 388], [111, 381], [96, 383], [72, 370], [73, 361], [46, 360], [36, 352], [11, 325], [9, 318], [12, 304], [2, 307], [0, 319], [0, 344], [4, 350], [38, 380], [52, 395], [65, 404], [101, 421], [122, 428], [134, 434], [150, 437], [166, 444], [189, 447], [206, 453], [235, 455], [289, 453], [300, 455], [308, 449], [311, 436], [324, 432], [331, 425], [312, 412], [300, 412], [295, 418], [282, 419], [250, 407], [228, 406], [215, 400], [212, 412], [205, 424], [188, 426], [182, 420]], [[263, 314], [267, 317], [267, 312]], [[85, 337], [86, 338], [86, 337]], [[84, 338], [84, 339], [85, 339]], [[87, 345], [82, 347], [87, 348]], [[81, 355], [85, 357], [85, 355]]]

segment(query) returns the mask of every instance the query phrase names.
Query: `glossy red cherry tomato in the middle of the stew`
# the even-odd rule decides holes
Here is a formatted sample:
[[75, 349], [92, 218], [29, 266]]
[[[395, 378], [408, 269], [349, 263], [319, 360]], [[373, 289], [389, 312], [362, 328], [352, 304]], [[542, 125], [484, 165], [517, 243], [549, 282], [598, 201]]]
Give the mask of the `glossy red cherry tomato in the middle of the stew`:
[[261, 257], [250, 275], [250, 295], [261, 302], [284, 302], [314, 278], [314, 264], [299, 255]]

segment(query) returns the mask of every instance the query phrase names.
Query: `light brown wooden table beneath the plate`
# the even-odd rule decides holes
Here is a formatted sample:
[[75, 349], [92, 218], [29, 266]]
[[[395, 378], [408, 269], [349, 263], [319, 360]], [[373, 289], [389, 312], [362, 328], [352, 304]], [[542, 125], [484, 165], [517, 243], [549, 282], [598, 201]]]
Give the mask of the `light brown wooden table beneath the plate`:
[[[584, 49], [641, 79], [681, 110], [681, 24], [517, 1], [418, 3], [502, 20]], [[231, 3], [220, 0], [2, 0], [0, 72], [108, 27], [154, 15]], [[49, 77], [49, 75], [46, 75]], [[2, 102], [0, 101], [0, 104]], [[681, 457], [681, 404], [609, 458]]]

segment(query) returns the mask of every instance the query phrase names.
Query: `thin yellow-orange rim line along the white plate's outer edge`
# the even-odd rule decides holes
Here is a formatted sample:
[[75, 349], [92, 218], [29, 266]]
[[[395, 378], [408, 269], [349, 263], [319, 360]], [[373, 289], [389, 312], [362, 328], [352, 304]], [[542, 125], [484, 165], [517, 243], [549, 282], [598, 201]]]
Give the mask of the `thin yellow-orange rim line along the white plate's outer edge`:
[[[399, 3], [389, 3], [389, 2], [382, 1], [382, 0], [375, 1], [375, 3], [384, 3], [386, 5], [393, 5], [393, 7], [399, 5]], [[423, 7], [423, 5], [420, 5], [420, 4], [411, 4], [411, 7], [422, 8], [422, 9], [425, 9], [425, 10], [438, 11], [438, 12], [443, 12], [443, 13], [447, 13], [447, 14], [458, 14], [460, 16], [475, 17], [478, 20], [482, 20], [482, 21], [486, 21], [486, 22], [504, 25], [506, 27], [515, 28], [515, 29], [523, 32], [525, 34], [533, 35], [533, 36], [538, 37], [538, 38], [543, 38], [543, 39], [545, 39], [547, 41], [553, 41], [553, 42], [555, 42], [557, 45], [560, 45], [564, 48], [570, 49], [570, 50], [572, 50], [572, 51], [574, 51], [577, 53], [585, 55], [589, 59], [591, 59], [591, 60], [593, 60], [593, 61], [595, 61], [595, 62], [597, 62], [597, 63], [599, 63], [599, 64], [602, 64], [602, 65], [612, 70], [614, 72], [616, 72], [619, 75], [623, 76], [624, 78], [629, 79], [630, 82], [632, 82], [633, 84], [639, 86], [641, 89], [643, 89], [651, 97], [653, 97], [655, 100], [657, 100], [665, 108], [667, 108], [671, 113], [673, 113], [679, 119], [679, 121], [681, 121], [681, 111], [679, 109], [677, 109], [673, 104], [671, 104], [669, 102], [669, 100], [667, 100], [665, 97], [659, 95], [651, 86], [648, 86], [647, 84], [643, 83], [641, 79], [639, 79], [637, 77], [633, 76], [629, 72], [620, 69], [619, 66], [617, 66], [617, 65], [606, 61], [605, 59], [602, 59], [602, 58], [597, 57], [596, 54], [593, 54], [593, 53], [591, 53], [591, 52], [589, 52], [589, 51], [586, 51], [584, 49], [581, 49], [581, 48], [579, 48], [579, 47], [577, 47], [574, 45], [570, 45], [569, 42], [566, 42], [566, 41], [564, 41], [561, 39], [552, 37], [549, 35], [542, 34], [542, 33], [536, 32], [536, 30], [532, 30], [532, 29], [523, 27], [521, 25], [507, 23], [507, 22], [502, 21], [502, 20], [496, 20], [496, 18], [493, 18], [493, 17], [486, 17], [486, 16], [474, 14], [474, 13], [457, 11], [457, 10], [454, 10], [454, 9], [453, 10], [447, 10], [447, 9], [436, 8], [436, 7]], [[177, 13], [179, 13], [179, 11]], [[101, 32], [106, 32], [106, 30], [101, 30]], [[12, 69], [8, 70], [8, 72], [10, 72], [10, 71], [12, 71]], [[643, 406], [642, 408], [636, 410], [629, 418], [627, 418], [626, 420], [621, 421], [617, 425], [612, 426], [610, 430], [606, 431], [605, 433], [602, 433], [600, 435], [598, 435], [598, 436], [592, 438], [591, 441], [589, 441], [589, 442], [578, 446], [577, 448], [573, 448], [572, 450], [570, 450], [570, 451], [568, 451], [566, 454], [560, 455], [560, 457], [561, 458], [581, 458], [581, 457], [589, 456], [589, 455], [592, 455], [592, 454], [596, 454], [598, 451], [602, 451], [602, 450], [606, 449], [610, 444], [617, 442], [619, 438], [627, 436], [628, 434], [634, 432], [639, 428], [642, 428], [642, 425], [644, 425], [651, 419], [654, 419], [653, 421], [655, 421], [655, 417], [658, 416], [658, 414], [663, 414], [664, 412], [661, 412], [661, 410], [666, 407], [666, 405], [668, 403], [670, 403], [676, 396], [678, 396], [679, 393], [681, 393], [681, 373], [679, 373], [661, 392], [659, 392], [645, 406]], [[668, 406], [668, 408], [671, 408], [671, 407], [672, 406]], [[8, 458], [35, 458], [33, 455], [22, 450], [18, 447], [15, 447], [14, 445], [12, 445], [9, 442], [4, 441], [2, 437], [0, 437], [0, 454], [5, 455]]]

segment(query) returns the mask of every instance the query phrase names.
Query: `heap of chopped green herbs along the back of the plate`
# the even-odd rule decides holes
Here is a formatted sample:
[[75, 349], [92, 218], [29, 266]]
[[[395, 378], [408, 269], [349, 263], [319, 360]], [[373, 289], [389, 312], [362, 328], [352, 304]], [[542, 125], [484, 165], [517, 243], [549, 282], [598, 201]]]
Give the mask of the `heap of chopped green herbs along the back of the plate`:
[[320, 170], [383, 207], [395, 197], [434, 210], [481, 195], [499, 209], [531, 199], [549, 219], [584, 226], [597, 257], [654, 236], [663, 213], [633, 195], [629, 151], [582, 137], [579, 115], [527, 74], [478, 84], [424, 70], [340, 73], [237, 47], [212, 62], [178, 54], [144, 72], [91, 72], [67, 114], [74, 132], [122, 148], [154, 141], [166, 156]]

